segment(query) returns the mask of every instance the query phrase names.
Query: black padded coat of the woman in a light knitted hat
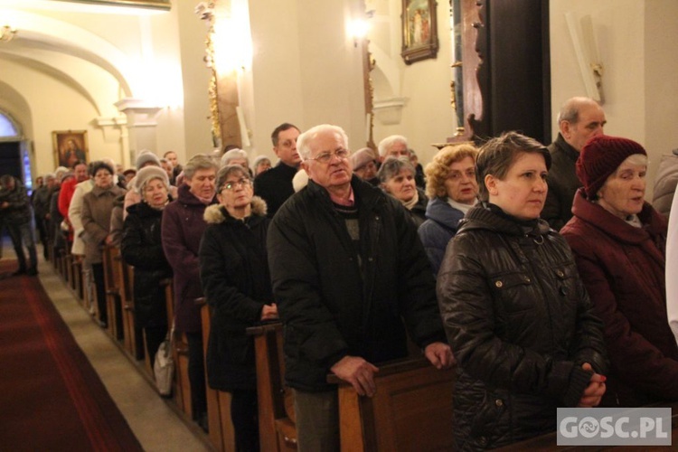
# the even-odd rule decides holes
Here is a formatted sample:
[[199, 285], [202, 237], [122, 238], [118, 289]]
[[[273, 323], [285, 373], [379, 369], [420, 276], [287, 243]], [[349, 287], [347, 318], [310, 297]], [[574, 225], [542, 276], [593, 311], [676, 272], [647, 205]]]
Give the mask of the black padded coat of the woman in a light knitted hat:
[[[167, 325], [165, 287], [160, 282], [172, 278], [161, 240], [163, 211], [139, 202], [127, 208], [120, 251], [134, 267], [134, 315], [137, 326]], [[171, 321], [171, 319], [170, 319]]]

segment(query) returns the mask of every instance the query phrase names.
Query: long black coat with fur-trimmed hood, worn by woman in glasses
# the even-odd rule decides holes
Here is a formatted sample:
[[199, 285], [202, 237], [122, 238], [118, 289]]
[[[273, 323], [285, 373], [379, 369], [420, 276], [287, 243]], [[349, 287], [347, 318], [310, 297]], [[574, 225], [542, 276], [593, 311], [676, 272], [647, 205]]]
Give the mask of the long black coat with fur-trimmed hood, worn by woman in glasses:
[[273, 302], [266, 258], [270, 220], [266, 203], [255, 196], [252, 214], [236, 220], [221, 205], [205, 210], [208, 223], [200, 245], [200, 278], [212, 307], [207, 343], [207, 381], [220, 391], [256, 388], [254, 339], [246, 328], [259, 323]]

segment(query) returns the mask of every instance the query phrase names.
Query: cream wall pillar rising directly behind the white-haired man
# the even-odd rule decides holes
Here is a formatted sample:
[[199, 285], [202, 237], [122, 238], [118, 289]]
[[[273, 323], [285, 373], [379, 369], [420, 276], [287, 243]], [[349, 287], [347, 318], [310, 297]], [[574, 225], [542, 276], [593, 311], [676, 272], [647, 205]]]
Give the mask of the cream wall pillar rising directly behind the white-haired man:
[[250, 155], [273, 155], [270, 134], [283, 122], [302, 131], [335, 124], [353, 148], [364, 146], [363, 63], [345, 33], [355, 3], [250, 1], [254, 55], [243, 88], [252, 103], [241, 102]]

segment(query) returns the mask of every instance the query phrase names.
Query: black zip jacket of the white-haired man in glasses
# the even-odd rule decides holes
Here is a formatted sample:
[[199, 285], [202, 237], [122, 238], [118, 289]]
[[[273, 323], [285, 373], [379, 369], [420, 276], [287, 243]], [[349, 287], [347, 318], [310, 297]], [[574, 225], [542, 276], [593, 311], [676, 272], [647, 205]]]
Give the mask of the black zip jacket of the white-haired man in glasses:
[[419, 347], [445, 341], [410, 213], [356, 176], [351, 185], [360, 257], [329, 193], [313, 181], [287, 200], [268, 229], [273, 293], [285, 325], [285, 379], [302, 391], [331, 389], [326, 375], [346, 355], [371, 363], [407, 356], [405, 325]]

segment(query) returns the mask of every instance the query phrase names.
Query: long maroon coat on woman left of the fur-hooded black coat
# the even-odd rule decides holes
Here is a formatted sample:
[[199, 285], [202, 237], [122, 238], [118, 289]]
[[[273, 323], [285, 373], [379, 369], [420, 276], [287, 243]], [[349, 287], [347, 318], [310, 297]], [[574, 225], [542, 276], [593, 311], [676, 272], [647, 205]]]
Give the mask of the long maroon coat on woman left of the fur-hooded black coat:
[[206, 207], [188, 185], [182, 185], [177, 200], [167, 204], [163, 212], [163, 250], [174, 270], [174, 326], [181, 333], [202, 331], [195, 298], [202, 297], [198, 251], [207, 228], [202, 218]]

